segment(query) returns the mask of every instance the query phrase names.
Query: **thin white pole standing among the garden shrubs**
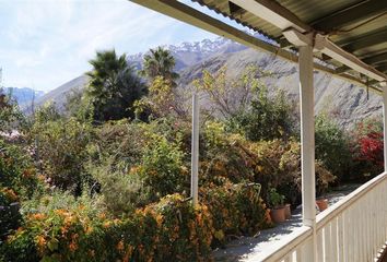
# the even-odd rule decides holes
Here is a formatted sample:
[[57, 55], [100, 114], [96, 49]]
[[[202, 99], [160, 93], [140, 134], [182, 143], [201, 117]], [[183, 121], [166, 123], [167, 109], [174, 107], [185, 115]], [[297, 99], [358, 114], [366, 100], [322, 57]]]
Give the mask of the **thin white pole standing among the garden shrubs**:
[[199, 171], [199, 102], [198, 94], [192, 95], [192, 141], [191, 141], [191, 198], [192, 204], [198, 204], [198, 171]]

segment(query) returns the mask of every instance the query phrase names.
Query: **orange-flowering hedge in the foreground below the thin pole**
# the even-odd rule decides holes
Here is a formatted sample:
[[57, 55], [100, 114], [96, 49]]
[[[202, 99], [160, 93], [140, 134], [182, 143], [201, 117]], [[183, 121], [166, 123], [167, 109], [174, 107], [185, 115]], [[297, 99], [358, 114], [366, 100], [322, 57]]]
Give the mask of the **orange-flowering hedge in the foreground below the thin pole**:
[[87, 206], [28, 214], [0, 251], [5, 261], [209, 261], [212, 219], [174, 194], [125, 219]]

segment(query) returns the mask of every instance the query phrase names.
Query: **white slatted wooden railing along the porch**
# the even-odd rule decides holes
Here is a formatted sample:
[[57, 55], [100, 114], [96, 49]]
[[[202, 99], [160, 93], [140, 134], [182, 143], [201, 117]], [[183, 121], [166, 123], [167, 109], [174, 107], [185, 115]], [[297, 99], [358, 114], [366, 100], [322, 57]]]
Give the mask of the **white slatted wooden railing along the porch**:
[[[258, 261], [309, 262], [313, 228], [303, 226]], [[371, 262], [387, 240], [387, 174], [384, 172], [317, 215], [318, 262]]]

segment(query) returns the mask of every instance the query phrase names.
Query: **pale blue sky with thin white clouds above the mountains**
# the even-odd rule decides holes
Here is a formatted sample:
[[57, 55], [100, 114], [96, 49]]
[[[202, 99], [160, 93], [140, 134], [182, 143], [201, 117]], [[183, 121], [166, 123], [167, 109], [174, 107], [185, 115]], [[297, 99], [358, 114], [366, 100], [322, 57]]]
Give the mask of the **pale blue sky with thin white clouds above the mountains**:
[[131, 55], [215, 37], [128, 0], [0, 0], [3, 86], [47, 92], [90, 70], [95, 50]]

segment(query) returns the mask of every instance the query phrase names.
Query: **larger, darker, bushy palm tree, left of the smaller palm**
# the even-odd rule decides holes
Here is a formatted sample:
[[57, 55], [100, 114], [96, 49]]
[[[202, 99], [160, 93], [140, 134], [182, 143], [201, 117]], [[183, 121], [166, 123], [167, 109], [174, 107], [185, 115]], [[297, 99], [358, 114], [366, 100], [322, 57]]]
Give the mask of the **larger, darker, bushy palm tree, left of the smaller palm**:
[[93, 105], [94, 120], [133, 118], [132, 105], [146, 94], [146, 88], [128, 64], [126, 55], [97, 51], [90, 63], [93, 70], [86, 73], [91, 78], [86, 94]]

